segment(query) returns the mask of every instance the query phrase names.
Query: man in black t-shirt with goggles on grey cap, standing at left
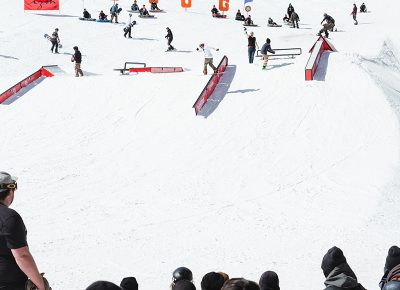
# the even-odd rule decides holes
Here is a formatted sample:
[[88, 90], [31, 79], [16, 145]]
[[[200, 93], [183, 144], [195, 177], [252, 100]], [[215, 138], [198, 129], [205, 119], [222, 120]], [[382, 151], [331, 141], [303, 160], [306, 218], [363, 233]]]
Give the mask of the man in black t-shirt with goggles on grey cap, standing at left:
[[16, 178], [0, 172], [0, 289], [25, 290], [30, 278], [38, 290], [47, 290], [26, 240], [21, 216], [10, 205], [17, 190]]

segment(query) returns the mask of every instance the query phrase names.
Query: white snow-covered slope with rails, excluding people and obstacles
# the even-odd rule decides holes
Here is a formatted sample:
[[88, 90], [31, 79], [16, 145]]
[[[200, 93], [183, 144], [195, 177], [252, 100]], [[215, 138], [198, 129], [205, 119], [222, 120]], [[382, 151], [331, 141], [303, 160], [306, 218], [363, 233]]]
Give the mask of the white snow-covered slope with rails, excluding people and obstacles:
[[[234, 20], [242, 1], [231, 2], [229, 18], [214, 19], [210, 1], [193, 0], [186, 12], [160, 1], [167, 13], [134, 15], [131, 40], [122, 31], [130, 1], [119, 1], [120, 25], [79, 21], [76, 0], [62, 1], [60, 13], [1, 4], [0, 91], [42, 65], [64, 71], [0, 107], [1, 170], [19, 177], [13, 208], [53, 289], [132, 275], [143, 290], [162, 289], [182, 265], [198, 288], [209, 271], [258, 281], [274, 270], [282, 289], [319, 289], [333, 245], [365, 288], [377, 287], [400, 236], [399, 4], [366, 2], [371, 13], [354, 26], [352, 2], [296, 0], [295, 30], [266, 26], [288, 3], [254, 0], [260, 26], [249, 30], [258, 44], [269, 37], [272, 48], [303, 50], [262, 71], [261, 60], [248, 64]], [[109, 6], [85, 1], [92, 16]], [[336, 20], [338, 52], [324, 56], [320, 81], [305, 82], [324, 12]], [[167, 26], [178, 52], [165, 52]], [[59, 55], [43, 38], [56, 27]], [[230, 66], [210, 110], [196, 117], [192, 105], [209, 78], [196, 51], [202, 42]], [[73, 77], [75, 45], [84, 78]], [[113, 69], [125, 61], [185, 72], [120, 76]]]

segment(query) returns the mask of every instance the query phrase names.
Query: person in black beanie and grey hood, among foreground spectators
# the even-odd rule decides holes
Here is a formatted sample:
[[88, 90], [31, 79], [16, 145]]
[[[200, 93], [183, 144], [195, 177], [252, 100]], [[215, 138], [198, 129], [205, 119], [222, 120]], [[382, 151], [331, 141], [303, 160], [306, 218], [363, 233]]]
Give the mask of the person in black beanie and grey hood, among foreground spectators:
[[321, 269], [326, 278], [325, 290], [365, 290], [338, 247], [328, 250], [322, 259]]

